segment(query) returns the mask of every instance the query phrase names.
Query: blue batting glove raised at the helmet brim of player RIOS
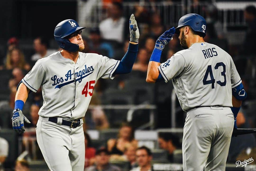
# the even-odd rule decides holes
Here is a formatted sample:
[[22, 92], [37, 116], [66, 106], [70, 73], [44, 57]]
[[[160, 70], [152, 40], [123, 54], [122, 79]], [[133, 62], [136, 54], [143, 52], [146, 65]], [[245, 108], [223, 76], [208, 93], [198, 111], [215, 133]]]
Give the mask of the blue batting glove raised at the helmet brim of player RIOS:
[[165, 31], [164, 34], [162, 34], [156, 41], [155, 48], [163, 51], [164, 46], [167, 45], [174, 36], [175, 28], [172, 27], [169, 30]]

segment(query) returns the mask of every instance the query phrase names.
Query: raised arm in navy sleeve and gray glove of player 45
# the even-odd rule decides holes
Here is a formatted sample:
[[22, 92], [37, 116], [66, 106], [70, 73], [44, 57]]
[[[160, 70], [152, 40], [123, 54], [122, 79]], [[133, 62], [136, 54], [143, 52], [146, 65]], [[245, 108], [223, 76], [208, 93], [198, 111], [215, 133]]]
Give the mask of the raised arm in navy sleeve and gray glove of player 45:
[[114, 71], [113, 75], [116, 74], [127, 74], [132, 71], [132, 66], [135, 62], [138, 53], [138, 41], [140, 37], [139, 28], [135, 20], [134, 15], [130, 17], [130, 44], [128, 50], [122, 60], [120, 61], [118, 67]]

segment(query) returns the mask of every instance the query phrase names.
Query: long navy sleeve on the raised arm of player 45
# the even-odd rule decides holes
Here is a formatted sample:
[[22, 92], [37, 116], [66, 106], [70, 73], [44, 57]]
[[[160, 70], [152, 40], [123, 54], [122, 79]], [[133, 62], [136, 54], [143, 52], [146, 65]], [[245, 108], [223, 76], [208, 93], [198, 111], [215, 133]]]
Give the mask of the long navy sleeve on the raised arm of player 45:
[[132, 66], [135, 62], [137, 53], [138, 53], [138, 44], [134, 45], [130, 43], [128, 47], [128, 51], [120, 61], [113, 75], [130, 73], [132, 71]]

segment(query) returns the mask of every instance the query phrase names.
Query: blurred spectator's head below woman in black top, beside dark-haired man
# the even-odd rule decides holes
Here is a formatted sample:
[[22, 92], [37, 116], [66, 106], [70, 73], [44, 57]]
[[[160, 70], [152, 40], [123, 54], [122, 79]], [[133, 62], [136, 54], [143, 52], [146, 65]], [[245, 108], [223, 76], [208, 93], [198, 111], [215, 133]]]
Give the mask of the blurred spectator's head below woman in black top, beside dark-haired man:
[[137, 163], [136, 163], [136, 147], [135, 146], [129, 145], [129, 146], [125, 147], [124, 157], [130, 163], [129, 169], [133, 169], [137, 166]]

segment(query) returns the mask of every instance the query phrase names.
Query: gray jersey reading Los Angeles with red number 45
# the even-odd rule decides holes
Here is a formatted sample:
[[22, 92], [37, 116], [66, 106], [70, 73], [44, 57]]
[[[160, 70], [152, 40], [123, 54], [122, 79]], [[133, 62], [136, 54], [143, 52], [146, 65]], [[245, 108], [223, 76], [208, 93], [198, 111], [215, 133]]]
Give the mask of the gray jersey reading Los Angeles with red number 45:
[[22, 82], [33, 92], [42, 86], [42, 117], [78, 119], [84, 117], [93, 88], [99, 78], [113, 79], [120, 61], [79, 52], [77, 63], [60, 51], [39, 59]]

